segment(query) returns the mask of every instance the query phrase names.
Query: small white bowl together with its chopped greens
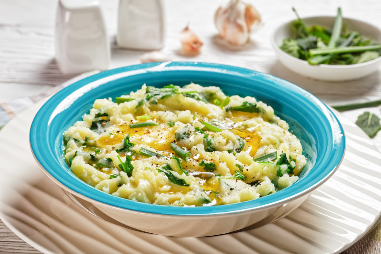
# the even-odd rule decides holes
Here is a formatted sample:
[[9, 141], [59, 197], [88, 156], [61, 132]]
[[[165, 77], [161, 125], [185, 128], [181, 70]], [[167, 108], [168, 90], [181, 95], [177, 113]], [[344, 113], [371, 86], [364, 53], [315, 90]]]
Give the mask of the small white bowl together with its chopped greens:
[[381, 30], [369, 23], [338, 15], [289, 21], [271, 37], [285, 67], [324, 81], [365, 77], [381, 65]]

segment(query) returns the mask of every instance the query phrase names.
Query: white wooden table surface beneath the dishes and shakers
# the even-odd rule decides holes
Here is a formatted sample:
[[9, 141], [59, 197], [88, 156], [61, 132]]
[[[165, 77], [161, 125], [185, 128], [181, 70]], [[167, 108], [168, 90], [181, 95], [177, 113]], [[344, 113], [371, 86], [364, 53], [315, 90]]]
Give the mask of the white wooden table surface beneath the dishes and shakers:
[[[295, 18], [291, 6], [303, 16], [335, 15], [341, 6], [346, 17], [362, 19], [381, 26], [379, 0], [257, 0], [252, 2], [262, 14], [264, 27], [252, 35], [251, 42], [241, 50], [226, 48], [216, 36], [213, 17], [216, 9], [226, 1], [165, 0], [167, 34], [164, 53], [175, 61], [203, 61], [237, 65], [270, 73], [306, 89], [323, 102], [332, 105], [341, 102], [367, 101], [381, 97], [381, 72], [361, 80], [343, 83], [314, 81], [288, 71], [275, 58], [269, 37], [281, 22]], [[120, 50], [115, 45], [117, 28], [117, 0], [101, 0], [107, 29], [112, 42], [111, 68], [139, 64], [144, 51]], [[32, 96], [69, 80], [74, 75], [63, 75], [54, 61], [54, 21], [56, 0], [0, 0], [0, 103], [14, 98]], [[202, 53], [194, 58], [177, 54], [178, 33], [190, 22], [190, 28], [204, 42]], [[380, 108], [366, 109], [381, 116]], [[352, 121], [365, 109], [343, 114]], [[381, 150], [381, 132], [373, 139]], [[39, 253], [14, 235], [0, 221], [0, 253]]]

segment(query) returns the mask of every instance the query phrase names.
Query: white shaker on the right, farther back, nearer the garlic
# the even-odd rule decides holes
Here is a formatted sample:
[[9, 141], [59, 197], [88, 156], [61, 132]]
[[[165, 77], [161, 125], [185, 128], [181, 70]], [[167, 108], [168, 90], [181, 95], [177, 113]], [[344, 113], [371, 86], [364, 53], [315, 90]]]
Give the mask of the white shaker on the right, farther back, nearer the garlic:
[[119, 0], [118, 46], [137, 50], [162, 48], [164, 22], [162, 0]]

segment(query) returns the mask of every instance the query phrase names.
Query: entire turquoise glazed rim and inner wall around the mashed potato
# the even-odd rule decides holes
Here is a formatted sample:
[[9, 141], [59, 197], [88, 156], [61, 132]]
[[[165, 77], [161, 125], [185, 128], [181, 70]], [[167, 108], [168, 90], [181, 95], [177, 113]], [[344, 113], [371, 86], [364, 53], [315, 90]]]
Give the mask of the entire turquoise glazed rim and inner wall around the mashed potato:
[[[119, 198], [86, 184], [64, 160], [63, 133], [95, 99], [129, 94], [146, 83], [220, 86], [227, 95], [254, 96], [271, 105], [300, 139], [308, 163], [301, 177], [277, 193], [235, 204], [205, 207], [172, 207]], [[56, 181], [93, 200], [134, 211], [171, 215], [212, 215], [269, 208], [307, 194], [327, 180], [344, 156], [344, 131], [335, 115], [312, 94], [280, 78], [229, 65], [199, 62], [163, 62], [122, 67], [98, 73], [62, 89], [38, 111], [30, 128], [35, 158]]]

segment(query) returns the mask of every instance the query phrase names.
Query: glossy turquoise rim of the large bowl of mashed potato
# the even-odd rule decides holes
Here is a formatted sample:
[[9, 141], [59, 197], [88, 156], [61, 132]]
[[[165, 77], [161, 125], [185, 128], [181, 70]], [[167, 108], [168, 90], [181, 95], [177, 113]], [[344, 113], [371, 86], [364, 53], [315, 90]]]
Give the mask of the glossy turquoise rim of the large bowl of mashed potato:
[[[268, 198], [272, 200], [270, 202], [267, 201], [265, 203], [265, 201], [261, 201], [263, 200], [264, 198], [263, 197], [263, 198], [257, 198], [255, 200], [249, 200], [249, 201], [244, 201], [240, 203], [224, 204], [219, 206], [199, 206], [199, 207], [163, 206], [163, 205], [157, 205], [157, 204], [141, 203], [138, 201], [124, 199], [114, 195], [110, 195], [109, 193], [106, 193], [106, 192], [102, 192], [100, 190], [95, 189], [91, 185], [86, 184], [82, 180], [81, 181], [83, 182], [83, 187], [77, 188], [74, 184], [71, 183], [71, 181], [60, 179], [59, 175], [56, 173], [56, 167], [54, 167], [54, 164], [52, 163], [56, 163], [55, 166], [59, 166], [59, 168], [62, 168], [62, 166], [57, 162], [57, 160], [50, 159], [49, 155], [54, 155], [54, 154], [48, 154], [47, 156], [47, 154], [43, 152], [43, 149], [41, 149], [42, 144], [50, 145], [49, 138], [47, 137], [48, 135], [43, 135], [43, 138], [44, 139], [46, 138], [46, 140], [41, 140], [36, 138], [37, 133], [40, 133], [40, 132], [44, 133], [44, 131], [47, 133], [47, 130], [49, 127], [48, 125], [52, 120], [52, 115], [53, 115], [53, 118], [56, 117], [56, 115], [54, 115], [54, 112], [56, 112], [56, 106], [58, 106], [63, 99], [67, 99], [67, 96], [71, 95], [75, 91], [80, 90], [86, 85], [91, 85], [91, 83], [102, 80], [102, 78], [110, 78], [110, 77], [112, 78], [112, 76], [115, 76], [115, 78], [112, 80], [117, 80], [119, 77], [121, 77], [120, 76], [121, 73], [132, 72], [132, 75], [134, 75], [134, 73], [137, 73], [136, 70], [138, 71], [145, 70], [146, 72], [202, 70], [205, 72], [229, 73], [232, 75], [239, 75], [241, 77], [243, 76], [251, 80], [253, 80], [254, 78], [257, 78], [257, 80], [272, 82], [276, 85], [282, 85], [283, 88], [287, 88], [293, 93], [298, 93], [300, 96], [303, 95], [304, 96], [303, 98], [305, 98], [306, 103], [311, 104], [312, 106], [319, 109], [319, 113], [321, 113], [321, 116], [327, 118], [328, 122], [330, 123], [331, 129], [330, 130], [326, 129], [326, 131], [330, 131], [330, 134], [332, 136], [332, 144], [331, 143], [328, 143], [328, 144], [332, 145], [333, 149], [331, 150], [331, 153], [335, 155], [334, 160], [327, 162], [328, 165], [325, 165], [327, 166], [327, 168], [329, 167], [330, 170], [327, 172], [327, 174], [322, 176], [321, 179], [316, 180], [312, 184], [307, 182], [309, 186], [306, 187], [303, 191], [298, 191], [298, 192], [295, 191], [295, 193], [293, 193], [292, 195], [289, 193], [289, 195], [286, 195], [286, 196], [275, 195], [274, 197], [272, 195], [268, 195], [268, 196], [271, 196], [271, 198]], [[83, 90], [81, 91], [81, 93], [82, 92]], [[62, 133], [63, 133], [63, 130], [62, 130]], [[171, 61], [170, 62], [154, 62], [154, 63], [130, 65], [126, 67], [120, 67], [117, 69], [112, 69], [112, 70], [107, 70], [104, 72], [97, 73], [90, 77], [79, 80], [73, 83], [72, 85], [67, 86], [66, 88], [62, 89], [61, 91], [56, 93], [54, 96], [52, 96], [47, 102], [45, 102], [45, 104], [37, 112], [32, 122], [32, 125], [30, 127], [30, 147], [31, 147], [33, 156], [35, 157], [40, 167], [43, 169], [44, 173], [47, 174], [54, 182], [58, 183], [61, 187], [63, 187], [66, 190], [69, 190], [71, 193], [77, 196], [85, 197], [86, 199], [101, 205], [106, 205], [108, 207], [112, 207], [116, 209], [127, 209], [133, 212], [143, 212], [143, 213], [145, 212], [145, 213], [156, 214], [161, 216], [165, 216], [165, 215], [170, 215], [170, 216], [173, 216], [173, 215], [175, 216], [226, 215], [226, 214], [234, 214], [238, 212], [259, 211], [262, 209], [269, 209], [272, 207], [279, 206], [288, 201], [299, 198], [302, 195], [306, 195], [307, 193], [311, 192], [312, 190], [316, 189], [318, 186], [323, 184], [323, 182], [327, 181], [327, 179], [331, 177], [333, 173], [335, 173], [335, 171], [337, 170], [338, 166], [340, 165], [341, 161], [344, 158], [344, 152], [346, 147], [345, 143], [346, 141], [345, 141], [343, 128], [341, 124], [339, 123], [338, 119], [336, 118], [335, 114], [333, 114], [331, 109], [329, 109], [317, 97], [308, 93], [306, 90], [288, 81], [282, 80], [280, 78], [274, 77], [266, 73], [261, 73], [255, 70], [249, 70], [249, 69], [234, 67], [230, 65], [204, 63], [204, 62], [171, 62]], [[320, 166], [318, 165], [317, 167], [320, 167]]]

